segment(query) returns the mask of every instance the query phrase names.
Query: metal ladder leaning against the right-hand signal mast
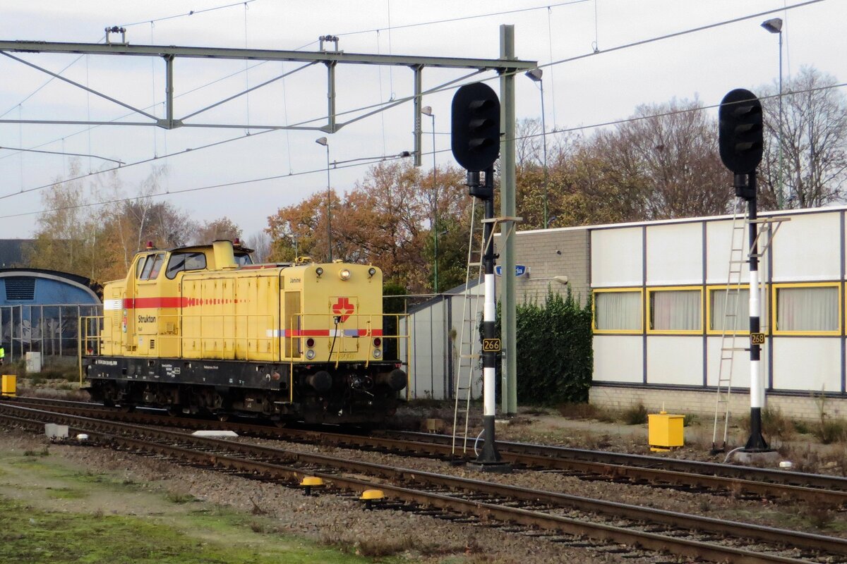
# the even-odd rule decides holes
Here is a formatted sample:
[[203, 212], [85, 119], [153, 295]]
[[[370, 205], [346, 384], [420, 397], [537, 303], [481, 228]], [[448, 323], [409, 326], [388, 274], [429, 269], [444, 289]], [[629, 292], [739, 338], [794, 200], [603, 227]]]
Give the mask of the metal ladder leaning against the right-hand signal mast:
[[[732, 394], [733, 365], [735, 353], [750, 350], [738, 347], [739, 301], [741, 297], [741, 272], [747, 262], [745, 258], [745, 235], [747, 233], [747, 211], [745, 200], [735, 199], [733, 227], [730, 235], [729, 271], [727, 288], [723, 294], [723, 322], [721, 326], [721, 359], [717, 370], [717, 402], [715, 402], [715, 424], [711, 435], [711, 451], [726, 450], [729, 432], [729, 397]], [[718, 420], [723, 419], [723, 441], [717, 445]]]

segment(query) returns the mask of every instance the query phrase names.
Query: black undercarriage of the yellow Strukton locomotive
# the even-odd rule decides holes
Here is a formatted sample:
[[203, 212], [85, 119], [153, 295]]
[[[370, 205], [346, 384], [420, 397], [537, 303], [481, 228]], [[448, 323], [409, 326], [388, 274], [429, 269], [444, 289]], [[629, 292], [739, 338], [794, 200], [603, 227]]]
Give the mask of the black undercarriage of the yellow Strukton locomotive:
[[287, 364], [239, 361], [94, 357], [84, 364], [94, 401], [219, 419], [379, 424], [406, 386], [405, 372], [391, 363], [296, 364], [293, 377]]

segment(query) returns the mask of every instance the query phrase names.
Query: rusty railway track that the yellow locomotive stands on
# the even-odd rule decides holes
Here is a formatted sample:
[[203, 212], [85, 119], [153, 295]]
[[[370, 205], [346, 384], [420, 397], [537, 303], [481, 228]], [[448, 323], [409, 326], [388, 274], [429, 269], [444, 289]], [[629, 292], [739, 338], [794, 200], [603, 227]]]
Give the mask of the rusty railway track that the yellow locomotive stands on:
[[[262, 436], [296, 442], [320, 442], [340, 448], [388, 452], [405, 456], [429, 456], [455, 462], [473, 459], [473, 451], [454, 457], [451, 437], [401, 431], [371, 435], [332, 433], [325, 430], [277, 429], [267, 425], [204, 419], [162, 417], [152, 413], [123, 413], [97, 404], [41, 398], [18, 398], [16, 402], [47, 409], [61, 409], [90, 417], [119, 419], [129, 423], [164, 424], [185, 429], [208, 427], [235, 430], [240, 435]], [[798, 500], [847, 507], [847, 478], [822, 474], [751, 468], [732, 464], [703, 463], [617, 452], [588, 451], [562, 446], [498, 441], [501, 457], [516, 468], [543, 469], [579, 479], [613, 483], [653, 485], [695, 493], [734, 496], [741, 499]]]

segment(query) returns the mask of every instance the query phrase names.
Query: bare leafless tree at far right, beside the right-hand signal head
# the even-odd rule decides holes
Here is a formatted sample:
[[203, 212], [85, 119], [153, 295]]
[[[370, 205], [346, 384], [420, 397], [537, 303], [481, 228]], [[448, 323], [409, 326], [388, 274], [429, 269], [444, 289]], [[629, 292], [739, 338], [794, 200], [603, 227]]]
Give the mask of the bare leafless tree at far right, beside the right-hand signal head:
[[[803, 67], [783, 88], [762, 89], [765, 157], [760, 191], [764, 205], [805, 208], [844, 200], [847, 182], [847, 101], [836, 79]], [[780, 140], [782, 142], [780, 143]], [[782, 158], [780, 158], [780, 147]]]

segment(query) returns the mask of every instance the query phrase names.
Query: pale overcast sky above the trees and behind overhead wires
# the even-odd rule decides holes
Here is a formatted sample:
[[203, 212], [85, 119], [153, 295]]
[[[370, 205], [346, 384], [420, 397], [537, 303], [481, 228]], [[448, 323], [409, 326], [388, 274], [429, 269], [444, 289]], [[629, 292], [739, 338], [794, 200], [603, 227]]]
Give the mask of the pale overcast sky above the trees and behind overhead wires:
[[[97, 43], [104, 41], [105, 27], [118, 25], [125, 27], [126, 41], [132, 45], [315, 52], [318, 36], [335, 35], [346, 53], [497, 58], [500, 25], [509, 24], [514, 25], [516, 56], [543, 68], [547, 131], [575, 129], [586, 135], [597, 124], [627, 118], [642, 104], [696, 97], [711, 106], [734, 88], [756, 92], [763, 85], [776, 85], [778, 36], [760, 27], [765, 19], [784, 21], [783, 80], [809, 65], [839, 83], [847, 82], [844, 0], [549, 2], [0, 0], [0, 41]], [[792, 8], [798, 4], [805, 5]], [[742, 19], [770, 10], [776, 12]], [[741, 20], [717, 25], [734, 19]], [[649, 41], [710, 25], [715, 26]], [[165, 65], [158, 58], [10, 54], [164, 117]], [[185, 116], [299, 66], [177, 58], [174, 113]], [[464, 74], [460, 69], [425, 68], [424, 90]], [[9, 57], [0, 57], [0, 76], [0, 120], [146, 120], [137, 114], [125, 117], [125, 107]], [[412, 76], [404, 67], [340, 65], [337, 111], [409, 96]], [[496, 79], [489, 84], [498, 90]], [[439, 166], [456, 166], [449, 151], [453, 91], [424, 96], [422, 102], [435, 114]], [[540, 101], [537, 86], [518, 75], [516, 117], [540, 118]], [[308, 121], [319, 126], [326, 112], [326, 71], [316, 65], [191, 121], [237, 126]], [[717, 115], [717, 110], [712, 112]], [[38, 212], [44, 209], [42, 194], [52, 183], [86, 175], [81, 181], [86, 193], [103, 201], [138, 194], [157, 173], [157, 198], [188, 211], [198, 222], [228, 217], [249, 237], [267, 227], [268, 216], [280, 207], [326, 190], [327, 152], [316, 139], [327, 137], [329, 160], [340, 163], [330, 167], [330, 185], [338, 192], [350, 191], [364, 178], [369, 157], [412, 151], [413, 118], [408, 101], [335, 134], [0, 122], [0, 238], [35, 233]], [[422, 123], [422, 166], [429, 171], [432, 121], [424, 116]], [[16, 151], [20, 148], [30, 151]], [[115, 161], [124, 164], [114, 169]]]

